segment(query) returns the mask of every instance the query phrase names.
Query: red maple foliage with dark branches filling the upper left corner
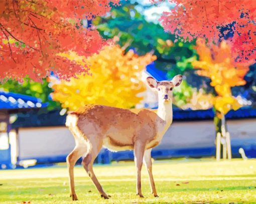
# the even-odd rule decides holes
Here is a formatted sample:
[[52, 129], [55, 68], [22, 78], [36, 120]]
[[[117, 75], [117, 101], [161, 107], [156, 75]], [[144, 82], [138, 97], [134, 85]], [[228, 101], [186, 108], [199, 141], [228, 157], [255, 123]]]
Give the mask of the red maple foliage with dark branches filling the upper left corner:
[[62, 79], [85, 67], [58, 54], [97, 53], [107, 42], [83, 19], [105, 15], [119, 0], [0, 1], [0, 80], [35, 81], [54, 71]]

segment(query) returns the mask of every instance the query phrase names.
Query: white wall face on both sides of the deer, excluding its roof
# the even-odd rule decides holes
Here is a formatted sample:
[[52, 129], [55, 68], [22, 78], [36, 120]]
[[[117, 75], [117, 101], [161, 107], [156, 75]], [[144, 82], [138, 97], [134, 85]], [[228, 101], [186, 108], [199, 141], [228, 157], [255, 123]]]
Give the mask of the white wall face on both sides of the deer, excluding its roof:
[[[231, 120], [227, 122], [231, 144], [256, 143], [256, 119]], [[176, 149], [214, 146], [213, 121], [174, 121], [155, 149]], [[74, 147], [74, 139], [66, 127], [40, 127], [19, 129], [19, 156], [67, 155]]]

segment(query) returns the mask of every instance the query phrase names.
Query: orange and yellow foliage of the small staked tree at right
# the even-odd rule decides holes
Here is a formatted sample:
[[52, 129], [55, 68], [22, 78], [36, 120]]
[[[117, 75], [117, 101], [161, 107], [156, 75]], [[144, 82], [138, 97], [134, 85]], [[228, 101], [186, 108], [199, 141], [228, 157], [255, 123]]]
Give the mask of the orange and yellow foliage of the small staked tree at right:
[[199, 60], [192, 62], [192, 65], [198, 69], [198, 75], [211, 79], [210, 85], [217, 93], [213, 100], [215, 109], [225, 115], [231, 109], [240, 108], [241, 104], [232, 96], [231, 87], [246, 83], [243, 78], [249, 64], [236, 62], [237, 56], [225, 41], [208, 47], [204, 40], [198, 39], [196, 44]]

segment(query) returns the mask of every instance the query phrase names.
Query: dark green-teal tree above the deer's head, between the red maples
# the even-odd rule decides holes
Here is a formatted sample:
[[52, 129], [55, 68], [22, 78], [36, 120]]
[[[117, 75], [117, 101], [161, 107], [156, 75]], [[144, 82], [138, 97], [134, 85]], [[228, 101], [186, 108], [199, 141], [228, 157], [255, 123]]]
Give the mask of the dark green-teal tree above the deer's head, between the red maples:
[[187, 69], [193, 69], [188, 59], [195, 56], [194, 42], [174, 43], [175, 35], [166, 33], [161, 25], [146, 20], [143, 12], [146, 9], [146, 6], [136, 2], [122, 2], [120, 7], [111, 9], [111, 15], [97, 17], [93, 24], [103, 38], [118, 38], [117, 43], [126, 48], [125, 52], [130, 49], [139, 55], [153, 52], [157, 56], [156, 68], [170, 71], [170, 77], [178, 71], [183, 74]]

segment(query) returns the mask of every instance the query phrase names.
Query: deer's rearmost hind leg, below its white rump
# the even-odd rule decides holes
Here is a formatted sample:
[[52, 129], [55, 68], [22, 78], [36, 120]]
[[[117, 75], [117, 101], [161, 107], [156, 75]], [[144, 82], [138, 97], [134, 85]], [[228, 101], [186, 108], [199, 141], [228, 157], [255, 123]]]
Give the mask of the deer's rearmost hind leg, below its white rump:
[[72, 197], [72, 200], [77, 200], [77, 196], [75, 193], [74, 165], [85, 152], [85, 145], [76, 145], [73, 151], [66, 158], [69, 173], [69, 190], [70, 197]]

